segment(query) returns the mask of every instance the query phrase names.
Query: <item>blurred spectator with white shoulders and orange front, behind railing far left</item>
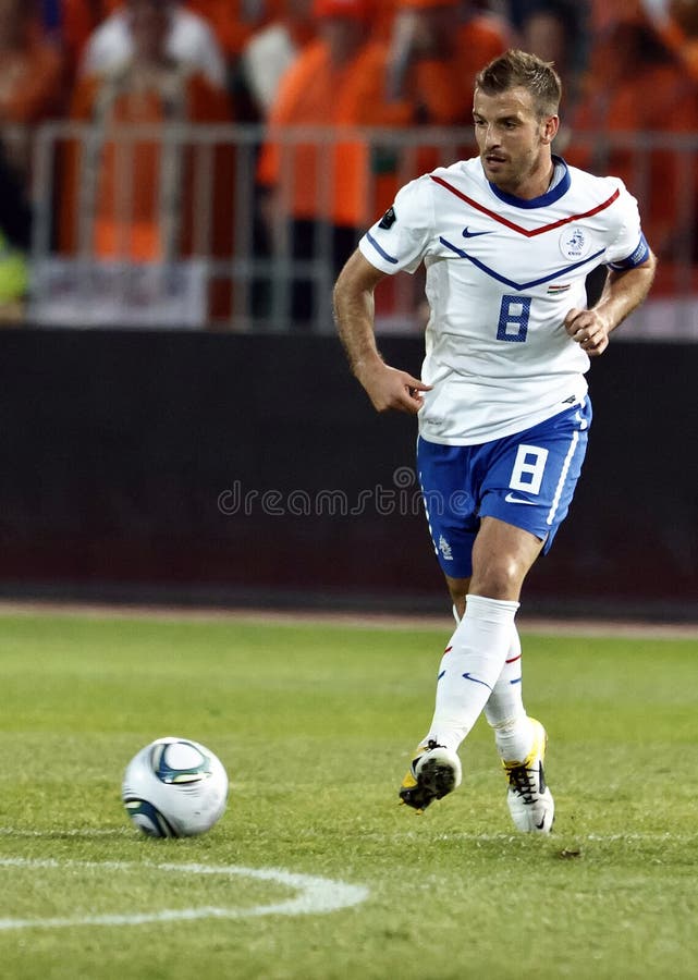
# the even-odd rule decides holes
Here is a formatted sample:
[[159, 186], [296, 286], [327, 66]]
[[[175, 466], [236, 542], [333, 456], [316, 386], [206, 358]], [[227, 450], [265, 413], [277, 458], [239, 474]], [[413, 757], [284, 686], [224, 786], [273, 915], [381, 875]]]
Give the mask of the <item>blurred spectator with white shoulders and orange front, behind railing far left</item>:
[[[232, 148], [198, 154], [176, 127], [230, 122], [232, 108], [222, 87], [172, 56], [177, 16], [163, 0], [130, 0], [125, 60], [77, 83], [71, 118], [94, 130], [66, 149], [65, 253], [136, 264], [172, 262], [197, 250], [231, 253]], [[204, 203], [195, 200], [201, 186]], [[210, 234], [197, 245], [201, 220]], [[219, 306], [220, 296], [212, 302]]]

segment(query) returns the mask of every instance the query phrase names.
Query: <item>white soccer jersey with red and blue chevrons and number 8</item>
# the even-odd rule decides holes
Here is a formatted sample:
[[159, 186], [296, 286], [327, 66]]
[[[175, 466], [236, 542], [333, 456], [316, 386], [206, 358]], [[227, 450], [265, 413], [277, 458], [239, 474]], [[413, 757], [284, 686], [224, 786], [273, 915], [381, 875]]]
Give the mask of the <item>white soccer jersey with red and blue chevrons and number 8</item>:
[[637, 201], [615, 177], [554, 158], [534, 200], [490, 184], [479, 157], [403, 187], [359, 242], [377, 269], [424, 260], [431, 308], [419, 412], [430, 442], [469, 445], [535, 426], [584, 397], [589, 358], [565, 332], [586, 307], [598, 265], [632, 268], [649, 254]]

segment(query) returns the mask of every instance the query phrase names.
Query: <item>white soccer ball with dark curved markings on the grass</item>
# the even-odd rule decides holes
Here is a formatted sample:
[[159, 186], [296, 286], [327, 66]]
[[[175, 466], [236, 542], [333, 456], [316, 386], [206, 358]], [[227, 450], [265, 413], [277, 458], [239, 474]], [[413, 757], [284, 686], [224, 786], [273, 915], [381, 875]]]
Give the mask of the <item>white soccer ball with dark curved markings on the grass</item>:
[[193, 837], [223, 816], [228, 773], [210, 749], [189, 738], [158, 738], [134, 756], [121, 797], [149, 837]]

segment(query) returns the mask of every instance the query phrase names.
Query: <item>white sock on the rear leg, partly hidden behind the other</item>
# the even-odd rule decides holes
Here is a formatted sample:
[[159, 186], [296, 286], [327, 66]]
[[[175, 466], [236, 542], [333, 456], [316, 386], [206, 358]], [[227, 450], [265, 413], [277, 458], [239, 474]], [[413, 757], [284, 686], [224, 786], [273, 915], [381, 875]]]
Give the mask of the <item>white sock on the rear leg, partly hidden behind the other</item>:
[[516, 626], [512, 627], [506, 660], [485, 706], [485, 716], [494, 728], [500, 759], [523, 762], [534, 736], [522, 695], [522, 644]]

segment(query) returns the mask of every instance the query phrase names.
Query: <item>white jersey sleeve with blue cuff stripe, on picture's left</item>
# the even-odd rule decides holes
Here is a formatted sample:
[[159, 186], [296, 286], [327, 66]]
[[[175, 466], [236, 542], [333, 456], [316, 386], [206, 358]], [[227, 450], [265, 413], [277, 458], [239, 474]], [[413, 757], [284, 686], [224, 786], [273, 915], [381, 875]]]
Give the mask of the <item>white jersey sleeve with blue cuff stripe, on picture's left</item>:
[[433, 199], [428, 177], [397, 192], [395, 203], [358, 243], [371, 266], [392, 275], [415, 272], [427, 254], [433, 229]]

